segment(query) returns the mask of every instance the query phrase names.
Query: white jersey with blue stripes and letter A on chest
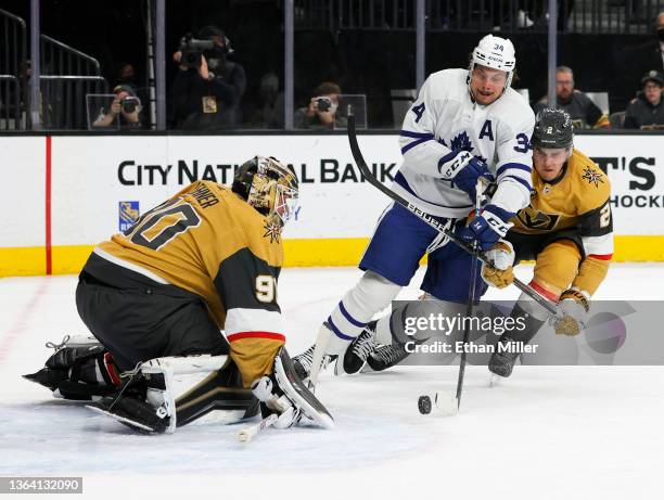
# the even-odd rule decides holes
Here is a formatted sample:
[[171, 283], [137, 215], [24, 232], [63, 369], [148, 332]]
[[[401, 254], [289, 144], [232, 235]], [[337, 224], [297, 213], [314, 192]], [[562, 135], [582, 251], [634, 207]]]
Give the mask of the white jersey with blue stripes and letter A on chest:
[[467, 150], [496, 176], [491, 205], [516, 213], [529, 202], [535, 116], [512, 89], [487, 106], [473, 102], [467, 78], [468, 69], [444, 69], [426, 79], [404, 119], [404, 164], [392, 189], [430, 214], [467, 216], [474, 203], [439, 172], [443, 156]]

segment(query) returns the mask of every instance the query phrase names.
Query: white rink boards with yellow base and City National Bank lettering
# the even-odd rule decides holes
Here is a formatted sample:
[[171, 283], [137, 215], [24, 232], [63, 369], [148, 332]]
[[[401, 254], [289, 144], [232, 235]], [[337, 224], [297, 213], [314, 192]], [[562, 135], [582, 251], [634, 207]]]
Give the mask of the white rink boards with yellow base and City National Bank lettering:
[[[365, 157], [390, 183], [395, 134], [361, 136]], [[577, 136], [609, 175], [615, 260], [664, 260], [664, 136]], [[301, 207], [284, 232], [286, 266], [352, 266], [388, 200], [365, 182], [347, 138], [330, 136], [0, 137], [0, 275], [78, 272], [93, 245], [195, 179], [230, 183], [260, 154], [292, 164]]]

